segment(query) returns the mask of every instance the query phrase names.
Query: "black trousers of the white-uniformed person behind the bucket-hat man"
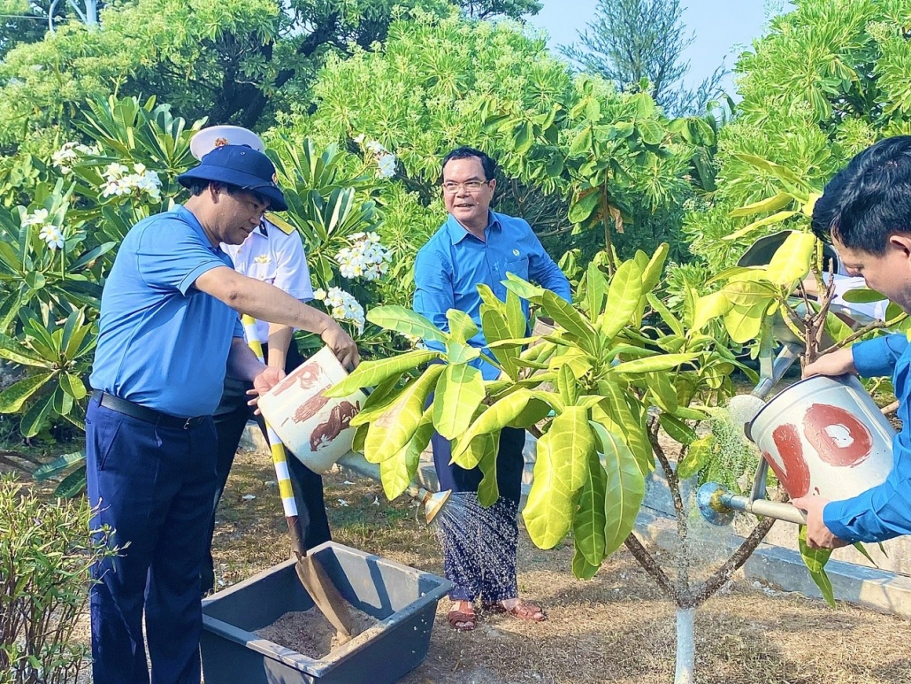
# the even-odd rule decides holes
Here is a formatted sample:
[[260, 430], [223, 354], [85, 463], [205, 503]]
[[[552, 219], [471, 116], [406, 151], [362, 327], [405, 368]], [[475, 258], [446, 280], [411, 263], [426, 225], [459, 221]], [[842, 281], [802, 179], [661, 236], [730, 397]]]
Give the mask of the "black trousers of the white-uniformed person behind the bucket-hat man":
[[[268, 354], [268, 349], [263, 345], [263, 353]], [[301, 352], [297, 345], [288, 347], [288, 357], [285, 359], [285, 371], [291, 372], [303, 363]], [[266, 434], [265, 421], [261, 416], [253, 416], [251, 407], [247, 406], [246, 391], [251, 388], [249, 382], [234, 378], [225, 380], [224, 393], [221, 396], [219, 408], [212, 417], [215, 421], [215, 431], [218, 435], [218, 448], [216, 450], [215, 472], [217, 477], [215, 499], [212, 504], [212, 513], [209, 529], [206, 536], [206, 554], [202, 561], [200, 573], [202, 592], [208, 593], [215, 585], [215, 564], [212, 559], [212, 536], [215, 534], [215, 511], [218, 508], [221, 494], [228, 482], [228, 474], [237, 453], [241, 435], [247, 427], [248, 420], [256, 420], [263, 434]], [[297, 503], [298, 520], [303, 535], [303, 545], [307, 549], [330, 541], [329, 519], [326, 517], [326, 505], [322, 495], [322, 477], [312, 472], [307, 466], [288, 451], [288, 473], [291, 476], [294, 488], [294, 500]], [[275, 505], [281, 511], [278, 490], [275, 490]], [[280, 513], [277, 513], [280, 514]]]

